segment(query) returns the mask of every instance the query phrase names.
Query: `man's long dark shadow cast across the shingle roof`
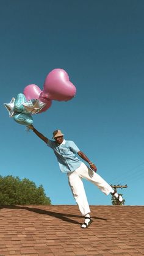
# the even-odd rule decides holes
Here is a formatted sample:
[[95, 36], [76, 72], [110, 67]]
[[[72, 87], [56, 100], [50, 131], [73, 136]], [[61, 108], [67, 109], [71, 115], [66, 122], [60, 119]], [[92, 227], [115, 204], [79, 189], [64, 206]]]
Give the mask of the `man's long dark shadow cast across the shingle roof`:
[[[26, 207], [26, 206], [20, 206], [20, 205], [4, 205], [0, 206], [0, 210], [2, 208], [8, 208], [8, 209], [21, 209], [21, 210], [27, 210], [27, 211], [32, 211], [34, 213], [38, 214], [46, 214], [48, 216], [52, 216], [57, 219], [61, 219], [62, 221], [70, 222], [73, 224], [81, 224], [80, 222], [74, 221], [74, 219], [70, 219], [71, 217], [73, 218], [82, 218], [84, 219], [84, 216], [81, 215], [75, 215], [75, 214], [65, 214], [65, 213], [57, 213], [56, 211], [47, 211], [47, 210], [42, 210], [40, 208], [32, 208], [32, 207]], [[99, 218], [96, 216], [93, 216], [92, 219], [101, 219], [103, 221], [107, 221], [107, 219], [104, 218]]]

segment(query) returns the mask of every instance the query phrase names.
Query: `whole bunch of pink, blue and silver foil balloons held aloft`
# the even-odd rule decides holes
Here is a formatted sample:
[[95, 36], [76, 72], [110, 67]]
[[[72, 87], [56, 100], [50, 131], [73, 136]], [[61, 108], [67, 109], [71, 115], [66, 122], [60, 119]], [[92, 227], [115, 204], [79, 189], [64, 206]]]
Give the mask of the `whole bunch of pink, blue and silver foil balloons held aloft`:
[[45, 79], [43, 90], [35, 84], [29, 84], [23, 93], [18, 93], [10, 103], [4, 103], [9, 116], [21, 125], [32, 125], [31, 114], [46, 111], [52, 100], [68, 101], [76, 95], [76, 87], [70, 82], [65, 70], [56, 68]]

